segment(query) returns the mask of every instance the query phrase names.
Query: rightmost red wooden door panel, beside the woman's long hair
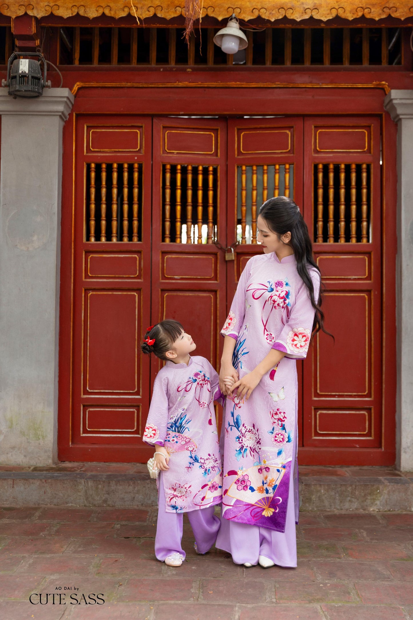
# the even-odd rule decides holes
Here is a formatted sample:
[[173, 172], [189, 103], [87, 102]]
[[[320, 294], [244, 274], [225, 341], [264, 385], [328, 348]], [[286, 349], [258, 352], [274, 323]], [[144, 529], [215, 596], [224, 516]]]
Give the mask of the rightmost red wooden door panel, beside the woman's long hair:
[[335, 342], [319, 334], [304, 362], [301, 461], [378, 465], [386, 432], [380, 118], [311, 117], [304, 127], [303, 210]]

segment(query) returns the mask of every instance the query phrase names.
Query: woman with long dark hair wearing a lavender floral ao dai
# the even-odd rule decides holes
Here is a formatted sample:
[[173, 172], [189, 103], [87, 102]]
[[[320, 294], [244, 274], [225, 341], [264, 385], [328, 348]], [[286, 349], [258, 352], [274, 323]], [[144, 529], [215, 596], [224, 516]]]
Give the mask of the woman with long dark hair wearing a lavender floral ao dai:
[[[216, 546], [236, 564], [297, 566], [297, 370], [323, 329], [320, 271], [298, 206], [267, 200], [258, 215], [264, 254], [246, 263], [225, 336], [222, 523]], [[236, 383], [226, 389], [224, 378]], [[225, 430], [224, 430], [225, 426]]]

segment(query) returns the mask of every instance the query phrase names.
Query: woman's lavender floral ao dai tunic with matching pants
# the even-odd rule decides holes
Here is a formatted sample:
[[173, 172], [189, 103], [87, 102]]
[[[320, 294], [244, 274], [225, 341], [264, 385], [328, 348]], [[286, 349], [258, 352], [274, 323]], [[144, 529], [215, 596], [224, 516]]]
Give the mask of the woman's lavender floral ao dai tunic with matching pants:
[[[311, 268], [315, 299], [320, 275]], [[233, 366], [240, 378], [271, 348], [285, 353], [248, 401], [225, 403], [222, 442], [222, 520], [216, 546], [237, 564], [263, 555], [280, 566], [297, 565], [297, 369], [310, 344], [315, 310], [295, 258], [275, 252], [248, 260], [221, 334], [237, 340]]]

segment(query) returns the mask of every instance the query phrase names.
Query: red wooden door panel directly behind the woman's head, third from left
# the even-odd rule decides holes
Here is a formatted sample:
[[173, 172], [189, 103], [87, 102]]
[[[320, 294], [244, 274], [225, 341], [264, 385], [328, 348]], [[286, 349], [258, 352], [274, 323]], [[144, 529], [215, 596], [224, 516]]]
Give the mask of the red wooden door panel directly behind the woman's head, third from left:
[[[231, 304], [245, 263], [263, 250], [256, 242], [256, 214], [267, 198], [303, 200], [303, 118], [228, 120], [227, 246], [238, 242], [227, 263], [227, 301]], [[298, 439], [302, 445], [302, 362], [298, 371]]]

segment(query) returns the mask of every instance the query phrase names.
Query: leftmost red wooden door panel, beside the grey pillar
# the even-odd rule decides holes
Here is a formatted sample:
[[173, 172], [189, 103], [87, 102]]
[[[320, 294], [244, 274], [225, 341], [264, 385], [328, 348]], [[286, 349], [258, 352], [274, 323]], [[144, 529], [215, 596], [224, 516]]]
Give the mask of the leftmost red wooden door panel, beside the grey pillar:
[[151, 124], [76, 118], [73, 368], [62, 460], [139, 460], [149, 405], [140, 341], [150, 320]]

